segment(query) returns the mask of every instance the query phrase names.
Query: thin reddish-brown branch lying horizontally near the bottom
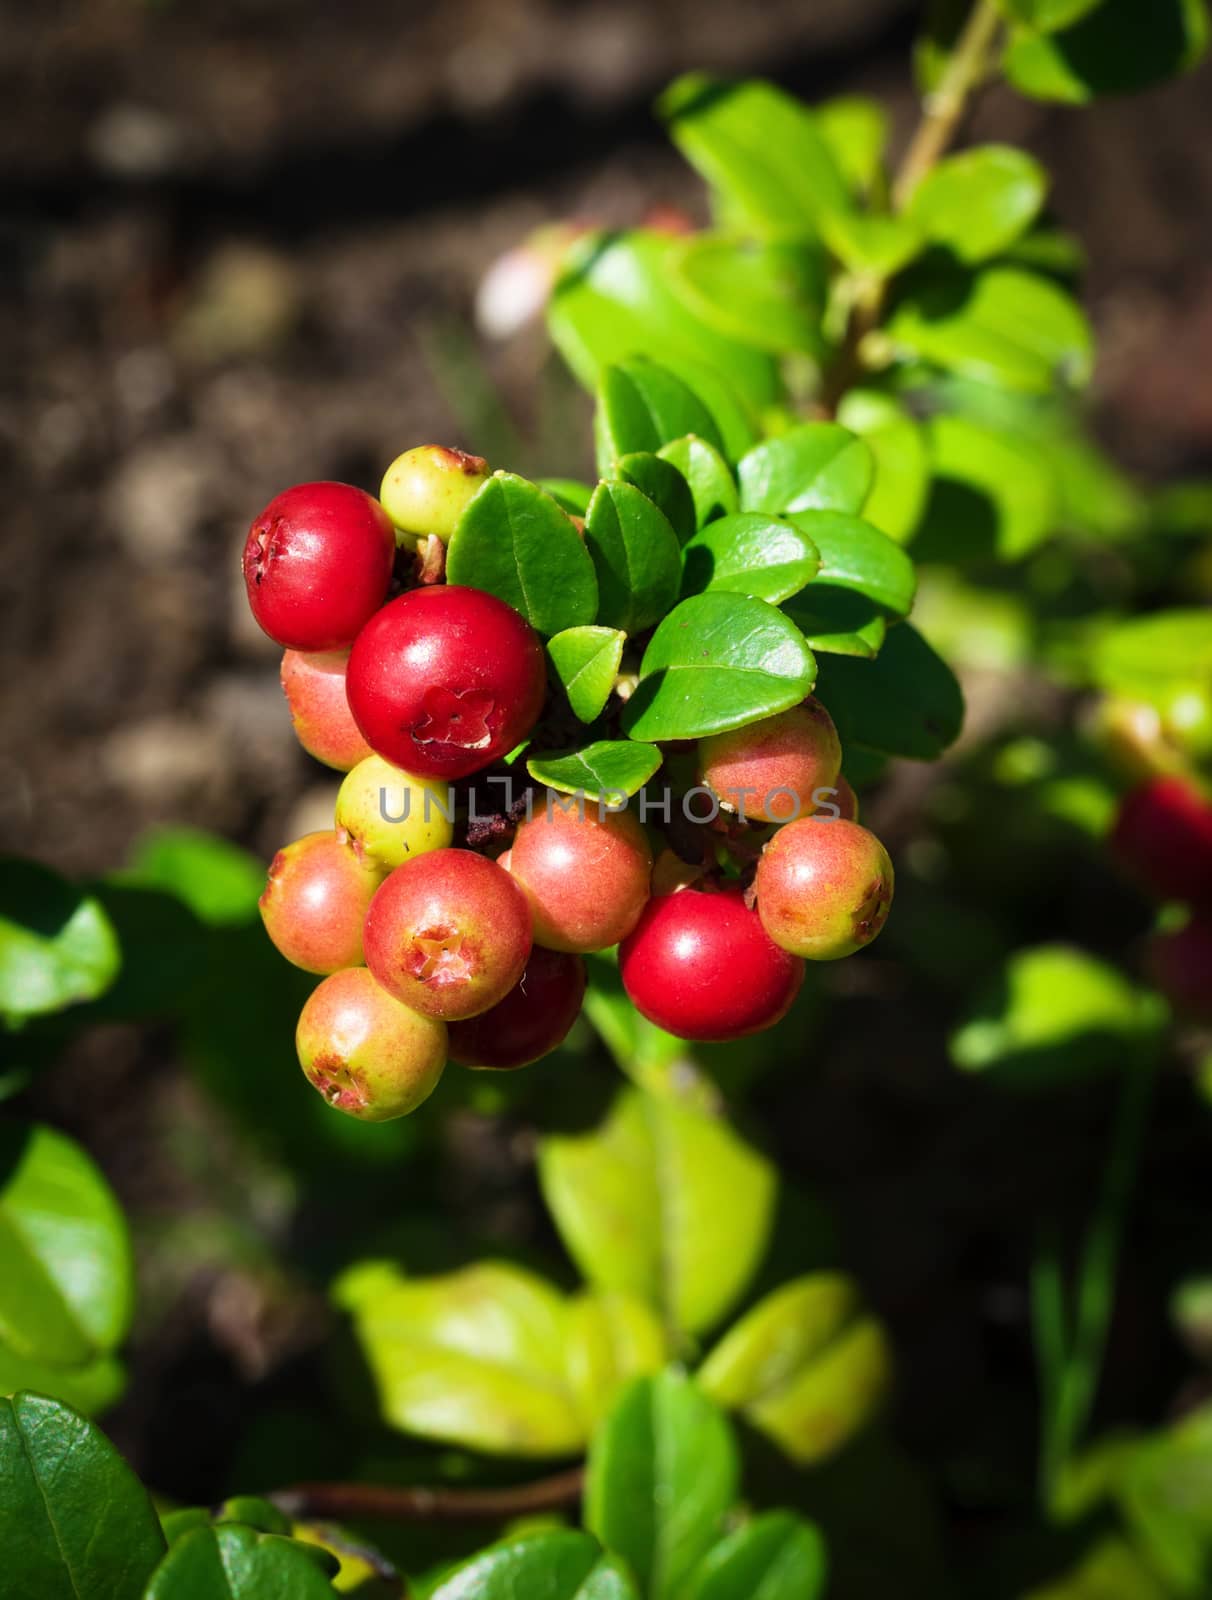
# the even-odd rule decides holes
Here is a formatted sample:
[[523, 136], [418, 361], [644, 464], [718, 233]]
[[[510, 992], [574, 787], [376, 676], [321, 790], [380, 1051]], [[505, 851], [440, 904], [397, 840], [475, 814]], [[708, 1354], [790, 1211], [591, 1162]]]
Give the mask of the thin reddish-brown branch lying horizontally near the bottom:
[[550, 1478], [494, 1490], [397, 1488], [385, 1483], [297, 1483], [269, 1499], [286, 1517], [352, 1522], [508, 1522], [544, 1510], [576, 1506], [585, 1488], [585, 1469], [572, 1467]]

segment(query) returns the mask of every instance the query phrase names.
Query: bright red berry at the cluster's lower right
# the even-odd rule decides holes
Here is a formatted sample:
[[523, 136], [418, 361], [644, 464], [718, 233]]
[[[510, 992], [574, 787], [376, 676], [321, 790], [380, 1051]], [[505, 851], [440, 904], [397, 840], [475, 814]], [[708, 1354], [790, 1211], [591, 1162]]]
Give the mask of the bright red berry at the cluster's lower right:
[[619, 946], [619, 970], [649, 1022], [697, 1040], [771, 1027], [804, 978], [804, 963], [779, 949], [734, 888], [651, 899]]

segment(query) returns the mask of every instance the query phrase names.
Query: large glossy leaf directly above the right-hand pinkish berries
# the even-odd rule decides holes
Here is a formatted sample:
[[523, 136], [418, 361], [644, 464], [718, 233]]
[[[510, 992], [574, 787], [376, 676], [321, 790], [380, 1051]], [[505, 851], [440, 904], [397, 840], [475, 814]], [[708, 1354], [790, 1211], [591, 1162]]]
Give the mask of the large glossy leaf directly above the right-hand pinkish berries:
[[812, 653], [774, 606], [692, 595], [649, 640], [624, 728], [633, 739], [699, 739], [798, 706], [814, 682]]

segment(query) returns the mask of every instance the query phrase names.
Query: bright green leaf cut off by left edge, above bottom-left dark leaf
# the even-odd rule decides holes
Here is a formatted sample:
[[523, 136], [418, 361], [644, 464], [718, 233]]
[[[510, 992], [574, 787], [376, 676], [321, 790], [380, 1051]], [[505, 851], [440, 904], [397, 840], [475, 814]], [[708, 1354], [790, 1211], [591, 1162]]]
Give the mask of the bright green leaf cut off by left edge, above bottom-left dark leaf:
[[53, 1128], [0, 1125], [0, 1352], [86, 1368], [126, 1336], [126, 1222], [85, 1152]]

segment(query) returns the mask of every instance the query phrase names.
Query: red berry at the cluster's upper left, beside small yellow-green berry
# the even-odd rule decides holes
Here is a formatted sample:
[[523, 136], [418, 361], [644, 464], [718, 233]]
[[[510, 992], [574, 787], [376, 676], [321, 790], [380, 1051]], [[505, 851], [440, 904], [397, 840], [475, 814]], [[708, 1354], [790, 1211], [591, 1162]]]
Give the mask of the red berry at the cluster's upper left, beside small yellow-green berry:
[[349, 483], [299, 483], [248, 530], [245, 586], [257, 624], [288, 650], [341, 650], [382, 605], [395, 530]]

